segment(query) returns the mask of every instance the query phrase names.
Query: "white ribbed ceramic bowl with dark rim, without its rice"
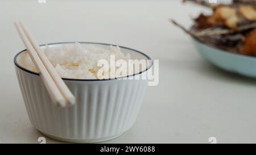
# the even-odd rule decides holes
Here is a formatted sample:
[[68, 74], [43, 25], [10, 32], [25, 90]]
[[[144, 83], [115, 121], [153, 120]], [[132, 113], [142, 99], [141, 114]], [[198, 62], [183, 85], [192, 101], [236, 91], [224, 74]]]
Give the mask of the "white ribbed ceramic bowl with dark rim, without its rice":
[[[71, 43], [48, 45], [61, 44]], [[104, 48], [109, 48], [110, 45], [82, 44], [94, 44]], [[147, 55], [134, 49], [120, 48], [123, 53], [130, 53], [133, 59], [151, 60]], [[133, 126], [146, 91], [147, 79], [63, 78], [75, 95], [77, 103], [75, 106], [62, 108], [52, 102], [39, 74], [19, 65], [19, 56], [24, 51], [19, 52], [14, 58], [16, 74], [28, 117], [32, 125], [44, 135], [71, 143], [94, 143], [114, 139]], [[147, 74], [151, 66], [152, 63], [146, 70], [132, 76]]]

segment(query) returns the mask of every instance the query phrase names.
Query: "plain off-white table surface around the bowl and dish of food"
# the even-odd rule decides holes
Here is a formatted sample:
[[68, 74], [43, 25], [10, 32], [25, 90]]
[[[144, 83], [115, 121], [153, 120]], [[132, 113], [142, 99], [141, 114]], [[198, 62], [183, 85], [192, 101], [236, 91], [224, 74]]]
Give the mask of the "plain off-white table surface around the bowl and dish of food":
[[[254, 79], [203, 60], [169, 18], [189, 26], [202, 7], [180, 1], [0, 1], [0, 143], [38, 143], [13, 57], [24, 49], [13, 25], [23, 20], [40, 44], [94, 41], [159, 59], [159, 85], [148, 87], [133, 128], [105, 143], [256, 143]], [[60, 143], [47, 138], [47, 143]]]

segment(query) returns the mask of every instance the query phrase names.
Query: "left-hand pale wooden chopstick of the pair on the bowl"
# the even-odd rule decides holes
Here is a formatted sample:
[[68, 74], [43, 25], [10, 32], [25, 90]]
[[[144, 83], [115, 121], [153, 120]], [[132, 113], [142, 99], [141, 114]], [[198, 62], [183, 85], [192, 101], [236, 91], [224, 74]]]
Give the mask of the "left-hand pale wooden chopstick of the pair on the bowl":
[[[36, 52], [35, 48], [33, 47], [32, 43], [30, 42], [30, 39], [28, 39], [28, 37], [26, 35], [26, 31], [23, 30], [22, 26], [20, 26], [19, 23], [15, 23], [15, 26], [19, 32], [20, 37], [22, 38], [24, 45], [26, 46], [26, 48], [28, 50], [31, 60], [34, 62], [36, 69], [38, 69], [38, 71], [40, 73], [40, 77], [42, 78], [44, 85], [46, 86], [46, 89], [47, 89], [49, 95], [51, 96], [51, 98], [53, 99], [53, 101], [57, 104], [60, 104], [60, 106], [62, 106], [62, 107], [67, 106], [67, 102], [69, 102], [71, 104], [75, 103], [75, 97], [73, 97], [74, 99], [71, 99], [69, 101], [69, 100], [67, 100], [68, 97], [65, 97], [65, 95], [62, 93], [62, 91], [59, 89], [59, 87], [57, 86], [57, 83], [55, 82], [55, 79], [53, 79], [53, 76], [51, 76], [51, 74], [48, 72], [46, 66], [44, 66], [44, 63], [42, 62], [42, 59], [39, 57], [38, 52]], [[48, 58], [47, 58], [47, 60], [48, 60]], [[68, 87], [66, 85], [61, 88], [65, 88], [65, 87], [68, 89]], [[65, 91], [67, 91], [67, 90], [65, 90]], [[68, 89], [68, 91], [70, 91], [70, 90]]]

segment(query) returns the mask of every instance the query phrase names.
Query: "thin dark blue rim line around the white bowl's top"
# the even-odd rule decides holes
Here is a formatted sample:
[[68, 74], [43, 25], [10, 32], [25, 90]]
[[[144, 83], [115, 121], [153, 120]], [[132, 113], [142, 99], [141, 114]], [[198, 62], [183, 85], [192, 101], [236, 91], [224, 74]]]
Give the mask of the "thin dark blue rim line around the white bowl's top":
[[[125, 76], [125, 77], [118, 77], [118, 78], [109, 78], [109, 79], [77, 79], [77, 78], [62, 78], [63, 80], [66, 80], [66, 81], [109, 81], [109, 80], [115, 80], [115, 79], [122, 79], [122, 78], [126, 78], [126, 77], [132, 77], [132, 76], [136, 76], [138, 74], [142, 74], [143, 72], [146, 72], [148, 69], [150, 69], [153, 65], [153, 61], [152, 59], [147, 56], [146, 54], [140, 52], [140, 51], [137, 51], [135, 49], [132, 49], [132, 48], [128, 48], [128, 47], [123, 47], [123, 46], [119, 46], [119, 45], [115, 45], [115, 44], [106, 44], [106, 43], [93, 43], [93, 42], [84, 42], [84, 41], [76, 41], [77, 43], [80, 43], [80, 44], [96, 44], [96, 45], [113, 45], [113, 46], [118, 46], [120, 48], [123, 48], [123, 49], [129, 49], [131, 51], [134, 51], [134, 52], [137, 52], [141, 55], [143, 55], [144, 57], [147, 58], [147, 60], [149, 60], [151, 63], [150, 63], [150, 66], [147, 67], [146, 70], [142, 70], [141, 72], [139, 73], [135, 73], [133, 75], [129, 75], [129, 76]], [[42, 44], [42, 45], [39, 45], [40, 47], [43, 47], [43, 46], [46, 46], [46, 45], [58, 45], [58, 44], [72, 44], [72, 43], [76, 43], [75, 41], [71, 41], [71, 42], [61, 42], [61, 43], [50, 43], [50, 44]], [[19, 53], [17, 53], [14, 57], [14, 64], [15, 66], [17, 66], [19, 69], [22, 69], [23, 71], [27, 72], [27, 73], [31, 73], [31, 74], [35, 74], [37, 76], [39, 76], [39, 73], [36, 73], [36, 72], [33, 72], [31, 70], [28, 70], [26, 68], [23, 68], [22, 66], [20, 66], [17, 62], [17, 57], [20, 55], [20, 53], [24, 52], [24, 51], [27, 51], [27, 49], [24, 49], [23, 51], [20, 51]]]

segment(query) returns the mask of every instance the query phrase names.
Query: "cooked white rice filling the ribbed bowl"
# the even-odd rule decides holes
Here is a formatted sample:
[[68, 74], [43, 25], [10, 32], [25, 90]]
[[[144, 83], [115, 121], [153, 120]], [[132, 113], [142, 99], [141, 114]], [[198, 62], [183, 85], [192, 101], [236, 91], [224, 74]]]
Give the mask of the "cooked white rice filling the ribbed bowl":
[[[76, 79], [97, 79], [97, 78], [116, 78], [127, 76], [127, 70], [122, 70], [122, 73], [114, 73], [112, 69], [104, 72], [101, 77], [97, 76], [98, 70], [101, 68], [97, 66], [99, 60], [107, 60], [110, 62], [110, 56], [115, 56], [115, 61], [125, 60], [127, 65], [131, 59], [130, 55], [124, 55], [121, 49], [117, 46], [110, 46], [109, 49], [95, 47], [94, 45], [85, 45], [80, 43], [63, 44], [61, 46], [49, 47], [46, 46], [44, 53], [48, 57], [51, 64], [56, 69], [57, 73], [63, 78]], [[24, 68], [38, 72], [32, 63], [28, 52], [20, 55], [19, 64]], [[133, 68], [132, 65], [128, 65]], [[116, 66], [110, 66], [109, 68]], [[139, 72], [135, 70], [135, 73]]]

